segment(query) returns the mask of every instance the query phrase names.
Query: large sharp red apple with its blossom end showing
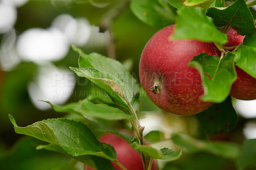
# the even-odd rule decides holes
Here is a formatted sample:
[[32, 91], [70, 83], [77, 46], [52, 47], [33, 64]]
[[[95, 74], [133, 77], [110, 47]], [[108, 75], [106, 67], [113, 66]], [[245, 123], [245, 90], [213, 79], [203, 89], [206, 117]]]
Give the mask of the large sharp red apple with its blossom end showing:
[[154, 104], [166, 112], [192, 115], [210, 107], [200, 100], [204, 94], [200, 72], [188, 66], [198, 54], [214, 56], [220, 50], [214, 43], [196, 40], [170, 40], [175, 24], [158, 31], [143, 49], [140, 59], [140, 82]]

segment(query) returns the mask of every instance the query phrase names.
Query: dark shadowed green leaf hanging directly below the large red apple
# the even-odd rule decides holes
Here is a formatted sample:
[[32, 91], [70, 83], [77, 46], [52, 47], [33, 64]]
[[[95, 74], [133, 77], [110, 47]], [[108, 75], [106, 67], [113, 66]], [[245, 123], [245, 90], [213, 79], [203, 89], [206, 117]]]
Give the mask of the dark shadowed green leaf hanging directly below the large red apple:
[[237, 114], [230, 97], [221, 104], [213, 104], [209, 109], [196, 114], [201, 129], [207, 134], [228, 133], [236, 126]]

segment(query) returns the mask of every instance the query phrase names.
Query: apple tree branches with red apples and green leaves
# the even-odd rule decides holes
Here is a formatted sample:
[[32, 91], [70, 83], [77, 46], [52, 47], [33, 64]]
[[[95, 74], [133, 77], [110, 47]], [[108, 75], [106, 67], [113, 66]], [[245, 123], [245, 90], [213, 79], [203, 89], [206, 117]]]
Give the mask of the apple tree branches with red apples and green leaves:
[[[15, 132], [46, 142], [36, 149], [61, 153], [84, 169], [255, 169], [256, 140], [228, 140], [239, 120], [232, 100], [256, 99], [254, 5], [245, 0], [120, 1], [105, 21], [129, 6], [140, 22], [159, 28], [138, 56], [140, 79], [113, 59], [111, 47], [106, 57], [72, 46], [79, 59], [70, 70], [104, 95], [66, 105], [44, 101], [76, 119], [63, 116], [21, 127], [9, 115]], [[111, 22], [99, 26], [113, 31]], [[196, 124], [198, 134], [143, 133], [147, 114], [141, 108], [152, 105], [159, 107], [151, 113], [155, 116], [193, 120], [188, 129]]]

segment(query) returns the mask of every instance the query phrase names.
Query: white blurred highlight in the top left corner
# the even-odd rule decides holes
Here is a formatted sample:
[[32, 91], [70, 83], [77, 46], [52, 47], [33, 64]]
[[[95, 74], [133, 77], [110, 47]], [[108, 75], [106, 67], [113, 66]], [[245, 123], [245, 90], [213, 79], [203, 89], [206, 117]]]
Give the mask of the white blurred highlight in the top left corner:
[[0, 34], [10, 31], [17, 20], [17, 10], [8, 0], [0, 1]]

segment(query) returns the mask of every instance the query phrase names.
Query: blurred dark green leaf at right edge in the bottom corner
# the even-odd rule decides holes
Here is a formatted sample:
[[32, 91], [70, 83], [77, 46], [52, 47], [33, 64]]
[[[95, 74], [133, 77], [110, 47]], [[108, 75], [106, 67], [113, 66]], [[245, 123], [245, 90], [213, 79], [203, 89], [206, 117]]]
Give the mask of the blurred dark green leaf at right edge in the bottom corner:
[[237, 158], [237, 167], [239, 169], [246, 169], [248, 167], [255, 167], [256, 164], [256, 139], [248, 139], [243, 144], [242, 153]]

